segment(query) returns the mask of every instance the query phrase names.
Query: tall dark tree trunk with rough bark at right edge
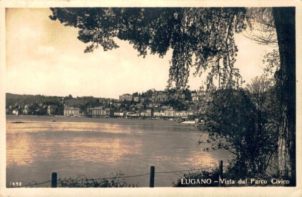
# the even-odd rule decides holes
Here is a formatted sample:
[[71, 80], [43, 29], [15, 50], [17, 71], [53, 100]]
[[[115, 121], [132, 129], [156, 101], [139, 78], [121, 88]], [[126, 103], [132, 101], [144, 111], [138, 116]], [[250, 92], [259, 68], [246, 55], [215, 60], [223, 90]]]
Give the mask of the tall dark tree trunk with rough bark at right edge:
[[276, 72], [281, 101], [278, 141], [278, 178], [296, 185], [295, 155], [295, 8], [273, 8], [278, 38], [280, 69]]

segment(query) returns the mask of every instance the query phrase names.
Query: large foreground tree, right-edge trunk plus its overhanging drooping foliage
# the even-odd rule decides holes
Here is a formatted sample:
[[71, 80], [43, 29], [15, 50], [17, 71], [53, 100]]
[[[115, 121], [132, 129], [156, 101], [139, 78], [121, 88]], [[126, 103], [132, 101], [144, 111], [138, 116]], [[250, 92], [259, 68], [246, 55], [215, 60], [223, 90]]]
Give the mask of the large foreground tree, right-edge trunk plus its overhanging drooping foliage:
[[[79, 29], [78, 39], [90, 43], [85, 52], [99, 45], [110, 50], [113, 38], [127, 40], [141, 56], [148, 52], [163, 57], [173, 50], [168, 87], [184, 88], [191, 66], [195, 75], [210, 69], [207, 87], [239, 87], [239, 70], [234, 68], [237, 46], [234, 34], [249, 22], [245, 8], [51, 8], [50, 19]], [[276, 72], [282, 96], [279, 130], [279, 177], [295, 185], [295, 28], [294, 8], [272, 8], [280, 53]], [[195, 61], [192, 61], [195, 57]], [[285, 150], [285, 151], [282, 151]]]

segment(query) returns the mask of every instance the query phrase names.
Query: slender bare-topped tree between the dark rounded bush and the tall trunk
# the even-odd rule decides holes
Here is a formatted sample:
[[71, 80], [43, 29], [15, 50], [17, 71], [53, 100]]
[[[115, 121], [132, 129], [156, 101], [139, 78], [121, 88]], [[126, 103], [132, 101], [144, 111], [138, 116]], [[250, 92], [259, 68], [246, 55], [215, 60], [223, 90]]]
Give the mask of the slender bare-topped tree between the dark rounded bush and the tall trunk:
[[[259, 152], [263, 155], [260, 163], [264, 164], [260, 165], [260, 168], [268, 167], [270, 159], [267, 159], [266, 156], [273, 158], [277, 150], [276, 142], [278, 141], [277, 134], [280, 126], [278, 120], [281, 117], [280, 102], [277, 99], [276, 87], [272, 85], [272, 80], [266, 79], [264, 76], [253, 78], [247, 88], [251, 94], [251, 101], [256, 107], [256, 143], [259, 144]], [[273, 144], [270, 145], [271, 148], [265, 149], [268, 141], [269, 143], [273, 142]]]

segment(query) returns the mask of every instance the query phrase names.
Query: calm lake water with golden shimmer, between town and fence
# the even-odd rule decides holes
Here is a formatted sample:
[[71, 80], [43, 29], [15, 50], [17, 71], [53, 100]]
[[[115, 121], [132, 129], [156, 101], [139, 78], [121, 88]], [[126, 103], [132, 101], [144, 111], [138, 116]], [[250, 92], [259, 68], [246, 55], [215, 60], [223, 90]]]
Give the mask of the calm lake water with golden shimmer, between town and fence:
[[[14, 122], [22, 123], [14, 123]], [[55, 121], [55, 122], [52, 122]], [[206, 138], [206, 135], [202, 136]], [[7, 116], [7, 186], [58, 178], [140, 175], [189, 170], [227, 162], [228, 152], [204, 152], [193, 125], [164, 120]], [[155, 186], [172, 186], [185, 172], [155, 174]], [[125, 178], [149, 186], [149, 175]], [[50, 187], [50, 182], [36, 185]]]

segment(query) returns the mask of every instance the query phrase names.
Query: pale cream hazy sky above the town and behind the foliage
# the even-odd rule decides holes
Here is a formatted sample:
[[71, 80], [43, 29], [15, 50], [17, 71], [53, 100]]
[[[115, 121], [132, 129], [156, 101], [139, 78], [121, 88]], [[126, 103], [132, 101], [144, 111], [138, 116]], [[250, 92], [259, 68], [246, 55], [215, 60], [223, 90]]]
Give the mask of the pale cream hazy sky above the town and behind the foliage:
[[[84, 53], [86, 44], [77, 39], [78, 30], [51, 21], [49, 15], [49, 9], [6, 10], [6, 92], [118, 99], [123, 93], [165, 89], [171, 50], [164, 58], [142, 58], [128, 42], [117, 40], [118, 49]], [[236, 67], [248, 82], [262, 74], [265, 48], [243, 35], [236, 35], [236, 43]], [[201, 84], [191, 74], [190, 89]]]

